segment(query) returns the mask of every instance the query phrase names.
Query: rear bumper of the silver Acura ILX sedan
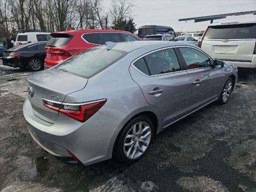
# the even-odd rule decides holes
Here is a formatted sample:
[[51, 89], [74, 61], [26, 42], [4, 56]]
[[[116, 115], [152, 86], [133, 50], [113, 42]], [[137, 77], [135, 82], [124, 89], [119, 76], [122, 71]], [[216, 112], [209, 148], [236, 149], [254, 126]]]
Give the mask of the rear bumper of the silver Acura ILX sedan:
[[[35, 142], [56, 158], [68, 163], [94, 164], [112, 157], [114, 133], [119, 121], [97, 112], [85, 123], [80, 123], [59, 114], [54, 124], [43, 122], [32, 110], [27, 99], [23, 114], [28, 122], [28, 130]], [[64, 125], [65, 124], [65, 125]], [[75, 161], [70, 152], [78, 158]]]

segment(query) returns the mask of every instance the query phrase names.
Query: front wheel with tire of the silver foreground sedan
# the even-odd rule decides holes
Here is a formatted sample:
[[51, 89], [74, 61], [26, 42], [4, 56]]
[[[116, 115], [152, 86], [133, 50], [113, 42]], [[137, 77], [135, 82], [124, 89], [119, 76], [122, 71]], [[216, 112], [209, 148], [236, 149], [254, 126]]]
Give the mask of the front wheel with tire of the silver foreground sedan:
[[218, 98], [218, 104], [226, 104], [231, 96], [231, 93], [232, 93], [232, 90], [233, 90], [233, 87], [234, 87], [234, 81], [231, 77], [229, 77], [225, 84], [224, 84], [224, 87], [221, 91], [221, 94]]

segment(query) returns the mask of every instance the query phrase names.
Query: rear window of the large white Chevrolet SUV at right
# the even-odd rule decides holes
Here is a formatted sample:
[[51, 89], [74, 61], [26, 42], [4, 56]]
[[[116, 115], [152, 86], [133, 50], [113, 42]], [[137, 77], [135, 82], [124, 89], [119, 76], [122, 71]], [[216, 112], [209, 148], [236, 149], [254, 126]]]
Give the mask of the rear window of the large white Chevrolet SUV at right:
[[256, 24], [209, 26], [204, 39], [255, 39]]

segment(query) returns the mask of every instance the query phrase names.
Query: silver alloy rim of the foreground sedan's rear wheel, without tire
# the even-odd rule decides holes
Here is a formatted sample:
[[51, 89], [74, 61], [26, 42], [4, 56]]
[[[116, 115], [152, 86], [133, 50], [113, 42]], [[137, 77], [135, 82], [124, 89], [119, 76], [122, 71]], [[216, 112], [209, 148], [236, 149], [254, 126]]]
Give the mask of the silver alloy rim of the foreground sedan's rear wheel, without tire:
[[124, 154], [129, 159], [136, 159], [149, 146], [151, 140], [152, 129], [146, 122], [138, 122], [130, 128], [124, 139]]

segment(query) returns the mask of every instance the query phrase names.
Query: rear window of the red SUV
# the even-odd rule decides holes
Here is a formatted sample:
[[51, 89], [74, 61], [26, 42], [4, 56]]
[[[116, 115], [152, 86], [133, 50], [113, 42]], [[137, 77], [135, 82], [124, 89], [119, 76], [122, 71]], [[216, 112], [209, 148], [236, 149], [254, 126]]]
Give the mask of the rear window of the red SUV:
[[62, 47], [70, 42], [73, 36], [68, 34], [51, 34], [52, 39], [46, 47]]

